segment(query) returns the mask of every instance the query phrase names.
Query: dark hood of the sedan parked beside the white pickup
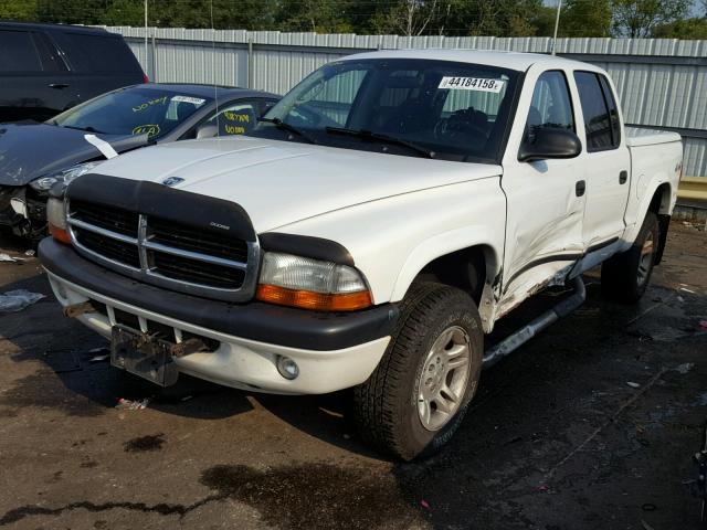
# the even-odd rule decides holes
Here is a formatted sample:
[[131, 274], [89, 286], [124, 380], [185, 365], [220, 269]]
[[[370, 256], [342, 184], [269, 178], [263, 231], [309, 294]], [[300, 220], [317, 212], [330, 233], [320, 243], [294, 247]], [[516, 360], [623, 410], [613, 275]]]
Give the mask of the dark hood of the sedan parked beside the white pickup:
[[[75, 163], [104, 158], [84, 130], [46, 124], [0, 124], [0, 186], [24, 186]], [[147, 144], [147, 136], [96, 135], [117, 152]]]

